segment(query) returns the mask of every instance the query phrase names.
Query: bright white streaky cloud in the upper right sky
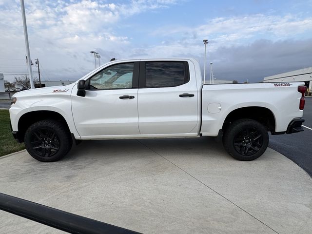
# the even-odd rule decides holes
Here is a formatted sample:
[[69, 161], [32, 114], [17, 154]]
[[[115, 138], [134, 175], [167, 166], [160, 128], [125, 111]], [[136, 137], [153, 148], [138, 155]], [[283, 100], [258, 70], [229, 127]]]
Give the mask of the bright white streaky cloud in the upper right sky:
[[153, 30], [151, 36], [166, 35], [171, 40], [183, 38], [184, 42], [194, 39], [209, 39], [212, 49], [220, 45], [243, 44], [250, 39], [287, 39], [299, 34], [312, 34], [312, 17], [286, 15], [247, 15], [214, 18], [197, 27], [167, 25]]

